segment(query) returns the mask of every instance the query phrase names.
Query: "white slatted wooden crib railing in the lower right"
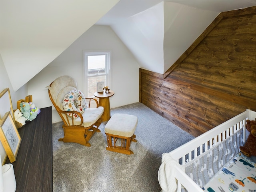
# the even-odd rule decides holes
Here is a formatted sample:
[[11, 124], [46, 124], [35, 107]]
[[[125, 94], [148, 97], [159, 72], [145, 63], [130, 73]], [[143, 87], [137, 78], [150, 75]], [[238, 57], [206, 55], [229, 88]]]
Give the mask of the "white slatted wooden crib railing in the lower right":
[[[231, 118], [230, 120], [216, 126], [212, 130], [198, 136], [190, 142], [180, 146], [179, 148], [170, 152], [172, 158], [177, 160], [181, 165], [184, 165], [199, 155], [207, 152], [213, 146], [225, 140], [226, 138], [235, 134], [238, 130], [244, 128], [246, 120], [256, 120], [256, 112], [246, 110], [241, 114]], [[245, 141], [246, 135], [243, 131], [243, 140]], [[186, 175], [182, 170], [175, 166], [174, 175], [177, 179], [177, 192], [183, 192], [181, 186], [184, 186], [188, 192], [203, 192], [203, 190]]]

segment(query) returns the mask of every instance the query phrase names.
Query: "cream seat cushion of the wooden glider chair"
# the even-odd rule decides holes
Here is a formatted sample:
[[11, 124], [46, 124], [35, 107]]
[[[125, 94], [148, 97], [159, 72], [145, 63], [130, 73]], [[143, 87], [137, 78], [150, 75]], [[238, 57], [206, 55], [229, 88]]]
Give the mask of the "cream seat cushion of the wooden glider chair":
[[[84, 113], [82, 114], [83, 118], [84, 118], [84, 123], [83, 126], [84, 127], [89, 127], [92, 124], [94, 124], [99, 118], [100, 116], [102, 116], [104, 112], [104, 108], [102, 106], [98, 107], [98, 108], [86, 108], [84, 110]], [[70, 124], [72, 124], [72, 119], [69, 119]], [[78, 125], [81, 122], [81, 118], [78, 117], [74, 120], [74, 125]]]

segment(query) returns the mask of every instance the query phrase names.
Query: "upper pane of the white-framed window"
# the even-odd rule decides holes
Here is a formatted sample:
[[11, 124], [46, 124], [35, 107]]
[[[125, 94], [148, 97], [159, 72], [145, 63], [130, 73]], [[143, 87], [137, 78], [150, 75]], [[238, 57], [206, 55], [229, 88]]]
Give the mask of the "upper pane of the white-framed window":
[[88, 75], [106, 73], [106, 55], [88, 56]]

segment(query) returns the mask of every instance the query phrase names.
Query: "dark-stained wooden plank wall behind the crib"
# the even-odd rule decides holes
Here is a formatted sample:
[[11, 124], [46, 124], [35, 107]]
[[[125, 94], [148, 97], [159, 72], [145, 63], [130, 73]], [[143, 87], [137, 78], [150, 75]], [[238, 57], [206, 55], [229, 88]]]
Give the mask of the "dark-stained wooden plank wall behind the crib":
[[140, 102], [194, 136], [256, 110], [256, 7], [221, 13], [167, 74], [140, 69]]

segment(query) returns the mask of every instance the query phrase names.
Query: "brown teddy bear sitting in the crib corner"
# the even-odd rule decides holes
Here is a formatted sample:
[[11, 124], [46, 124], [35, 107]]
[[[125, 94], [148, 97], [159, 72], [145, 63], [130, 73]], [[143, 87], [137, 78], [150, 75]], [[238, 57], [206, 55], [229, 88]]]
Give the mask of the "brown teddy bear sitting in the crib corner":
[[244, 146], [240, 146], [240, 150], [245, 156], [256, 156], [256, 121], [246, 120], [246, 129], [250, 132], [250, 134], [244, 143]]

